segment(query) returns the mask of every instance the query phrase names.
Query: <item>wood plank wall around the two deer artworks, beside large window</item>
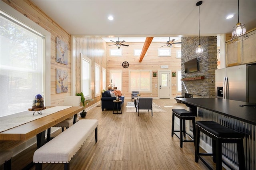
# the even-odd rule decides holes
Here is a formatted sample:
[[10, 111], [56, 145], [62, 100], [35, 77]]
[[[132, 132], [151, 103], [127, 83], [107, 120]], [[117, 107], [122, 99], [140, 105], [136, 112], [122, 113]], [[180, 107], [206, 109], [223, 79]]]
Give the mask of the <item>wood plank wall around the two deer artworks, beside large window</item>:
[[[51, 33], [51, 75], [49, 75], [51, 76], [51, 105], [61, 105], [64, 97], [71, 94], [70, 34], [34, 5], [33, 2], [27, 0], [2, 1]], [[68, 65], [56, 62], [56, 37], [68, 44]], [[56, 68], [68, 71], [67, 93], [56, 93]]]

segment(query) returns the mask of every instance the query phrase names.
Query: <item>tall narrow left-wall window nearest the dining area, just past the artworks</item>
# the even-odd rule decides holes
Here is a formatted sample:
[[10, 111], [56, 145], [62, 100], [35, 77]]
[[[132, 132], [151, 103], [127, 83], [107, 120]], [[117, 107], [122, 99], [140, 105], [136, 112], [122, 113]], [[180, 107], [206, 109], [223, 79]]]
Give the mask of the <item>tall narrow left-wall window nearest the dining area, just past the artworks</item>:
[[86, 99], [90, 99], [92, 96], [91, 92], [91, 60], [81, 53], [82, 59], [82, 92]]

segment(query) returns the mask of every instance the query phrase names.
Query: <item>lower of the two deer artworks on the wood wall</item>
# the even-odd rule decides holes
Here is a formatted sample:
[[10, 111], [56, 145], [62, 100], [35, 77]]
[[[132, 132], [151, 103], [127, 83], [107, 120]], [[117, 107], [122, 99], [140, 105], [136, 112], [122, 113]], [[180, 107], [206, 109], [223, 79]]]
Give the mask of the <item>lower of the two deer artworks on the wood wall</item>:
[[68, 92], [68, 71], [56, 69], [56, 93]]

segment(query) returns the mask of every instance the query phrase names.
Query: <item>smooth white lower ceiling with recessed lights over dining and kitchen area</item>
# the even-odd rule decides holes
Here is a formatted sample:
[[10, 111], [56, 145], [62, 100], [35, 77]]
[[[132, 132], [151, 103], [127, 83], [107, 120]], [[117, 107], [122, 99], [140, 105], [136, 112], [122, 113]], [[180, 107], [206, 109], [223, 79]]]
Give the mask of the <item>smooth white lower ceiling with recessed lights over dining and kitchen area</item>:
[[[198, 0], [32, 0], [71, 35], [105, 37], [198, 36]], [[256, 28], [256, 0], [239, 1], [239, 21]], [[231, 33], [238, 22], [237, 0], [204, 0], [200, 6], [200, 35]], [[226, 19], [233, 14], [234, 17]], [[114, 20], [108, 20], [112, 15]], [[173, 38], [174, 37], [174, 38]], [[156, 38], [154, 38], [156, 41]], [[122, 40], [121, 40], [122, 41]], [[142, 40], [138, 40], [142, 41]], [[144, 40], [142, 41], [144, 42]]]

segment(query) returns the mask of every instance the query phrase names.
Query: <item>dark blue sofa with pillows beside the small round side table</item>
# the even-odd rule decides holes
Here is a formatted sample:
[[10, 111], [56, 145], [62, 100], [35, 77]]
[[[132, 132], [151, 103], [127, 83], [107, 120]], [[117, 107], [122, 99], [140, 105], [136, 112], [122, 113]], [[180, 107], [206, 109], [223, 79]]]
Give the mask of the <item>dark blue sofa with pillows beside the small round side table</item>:
[[[119, 99], [122, 100], [122, 103], [120, 105], [122, 106], [124, 103], [124, 96], [119, 96]], [[116, 97], [111, 97], [110, 96], [110, 90], [104, 91], [102, 93], [101, 97], [101, 109], [104, 111], [104, 109], [112, 109], [114, 107], [114, 102], [113, 100], [116, 100]], [[118, 109], [120, 109], [120, 105], [118, 104]]]

